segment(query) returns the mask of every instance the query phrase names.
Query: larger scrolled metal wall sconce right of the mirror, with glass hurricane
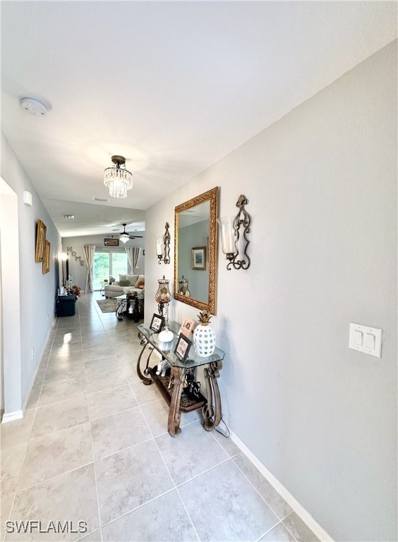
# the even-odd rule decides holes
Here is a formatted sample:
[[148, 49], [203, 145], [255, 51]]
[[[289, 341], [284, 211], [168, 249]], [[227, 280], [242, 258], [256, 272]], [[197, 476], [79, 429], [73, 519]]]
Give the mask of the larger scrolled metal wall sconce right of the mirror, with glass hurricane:
[[[251, 233], [251, 215], [245, 209], [248, 204], [246, 195], [241, 194], [236, 202], [236, 207], [239, 207], [239, 212], [236, 217], [220, 217], [217, 218], [219, 230], [221, 233], [222, 251], [227, 256], [227, 270], [248, 269], [250, 267], [250, 258], [248, 257], [247, 248], [250, 241], [247, 235]], [[243, 239], [239, 243], [239, 230], [243, 228]], [[239, 248], [243, 251], [244, 258], [239, 260]]]

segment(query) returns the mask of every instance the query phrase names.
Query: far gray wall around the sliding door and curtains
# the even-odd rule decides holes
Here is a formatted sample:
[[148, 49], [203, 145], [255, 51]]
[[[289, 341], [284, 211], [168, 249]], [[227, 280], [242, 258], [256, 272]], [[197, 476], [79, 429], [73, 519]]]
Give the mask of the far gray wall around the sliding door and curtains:
[[[143, 239], [132, 239], [128, 241], [127, 246], [140, 246], [145, 247], [145, 232], [139, 231], [138, 235], [144, 236]], [[78, 236], [78, 237], [64, 237], [62, 238], [62, 250], [66, 252], [68, 246], [73, 248], [73, 251], [76, 252], [76, 256], [81, 256], [83, 262], [85, 263], [83, 246], [84, 245], [95, 245], [98, 248], [101, 248], [102, 251], [111, 251], [111, 252], [126, 252], [124, 250], [123, 243], [119, 243], [119, 246], [104, 246], [104, 238], [109, 237], [107, 235], [92, 235], [92, 236]], [[154, 242], [155, 246], [155, 242]], [[154, 248], [155, 250], [155, 248]], [[85, 282], [87, 279], [87, 264], [80, 265], [79, 260], [71, 256], [69, 258], [69, 274], [73, 277], [74, 284], [78, 284], [81, 289], [85, 289]], [[135, 274], [145, 275], [145, 256], [143, 251], [140, 253], [140, 259], [138, 260], [138, 265], [135, 270]], [[66, 275], [65, 275], [66, 277]], [[119, 280], [119, 277], [114, 277], [116, 280]]]

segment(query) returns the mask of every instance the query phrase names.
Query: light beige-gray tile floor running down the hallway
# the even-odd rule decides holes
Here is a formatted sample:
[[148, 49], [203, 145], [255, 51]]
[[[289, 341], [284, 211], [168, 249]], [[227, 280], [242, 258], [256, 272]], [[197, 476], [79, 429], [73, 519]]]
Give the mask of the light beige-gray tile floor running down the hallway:
[[1, 540], [318, 540], [200, 411], [169, 436], [167, 404], [135, 373], [135, 323], [98, 298], [56, 321], [24, 418], [1, 426]]

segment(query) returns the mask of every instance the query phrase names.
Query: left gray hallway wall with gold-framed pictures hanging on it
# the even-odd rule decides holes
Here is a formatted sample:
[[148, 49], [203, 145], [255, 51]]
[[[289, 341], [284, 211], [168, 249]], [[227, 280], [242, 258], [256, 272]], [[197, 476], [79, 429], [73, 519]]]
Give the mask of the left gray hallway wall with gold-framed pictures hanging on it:
[[[20, 293], [20, 369], [22, 404], [32, 383], [32, 378], [40, 361], [52, 322], [54, 320], [55, 296], [58, 283], [58, 253], [61, 238], [50, 219], [47, 210], [18, 162], [18, 159], [1, 134], [1, 176], [18, 197], [18, 245], [19, 281], [7, 286]], [[32, 193], [33, 205], [23, 203], [23, 191]], [[37, 220], [47, 226], [47, 239], [51, 243], [50, 272], [42, 274], [42, 263], [35, 263], [35, 231]], [[18, 303], [18, 296], [16, 301]], [[11, 307], [4, 307], [4, 318]], [[18, 344], [15, 345], [18, 348]], [[32, 356], [32, 349], [34, 354]], [[7, 382], [5, 382], [7, 386]], [[8, 405], [12, 411], [22, 404]], [[7, 409], [6, 409], [7, 410]]]

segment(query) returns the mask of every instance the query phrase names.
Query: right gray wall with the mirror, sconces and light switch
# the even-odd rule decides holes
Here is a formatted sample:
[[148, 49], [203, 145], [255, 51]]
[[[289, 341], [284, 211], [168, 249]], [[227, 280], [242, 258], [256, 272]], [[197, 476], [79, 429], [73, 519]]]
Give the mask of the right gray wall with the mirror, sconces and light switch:
[[[250, 269], [218, 257], [225, 420], [335, 540], [397, 540], [397, 43], [153, 205], [147, 239], [214, 186], [219, 215], [244, 193], [253, 217]], [[382, 328], [381, 359], [350, 322]]]

